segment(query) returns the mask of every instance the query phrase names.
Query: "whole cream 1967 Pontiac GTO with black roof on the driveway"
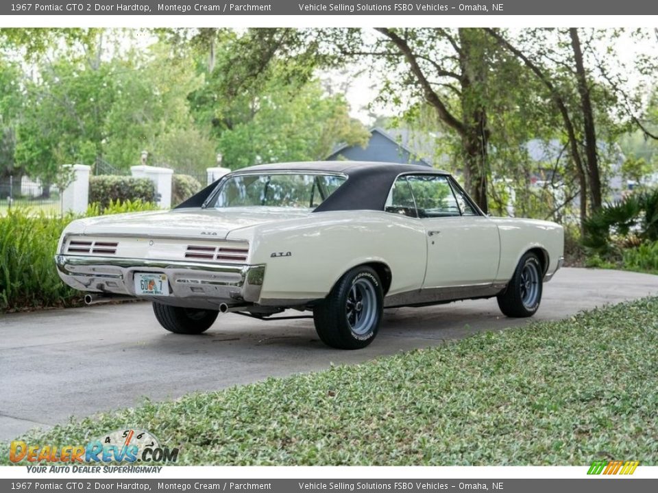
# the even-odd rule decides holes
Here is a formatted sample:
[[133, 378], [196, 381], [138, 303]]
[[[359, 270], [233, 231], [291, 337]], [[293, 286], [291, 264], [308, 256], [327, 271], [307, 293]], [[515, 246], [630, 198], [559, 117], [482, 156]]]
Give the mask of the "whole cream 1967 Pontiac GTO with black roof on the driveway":
[[302, 162], [235, 171], [171, 211], [75, 220], [56, 263], [87, 303], [149, 299], [171, 332], [292, 308], [358, 349], [387, 307], [497, 296], [532, 316], [562, 255], [561, 226], [485, 216], [443, 171]]

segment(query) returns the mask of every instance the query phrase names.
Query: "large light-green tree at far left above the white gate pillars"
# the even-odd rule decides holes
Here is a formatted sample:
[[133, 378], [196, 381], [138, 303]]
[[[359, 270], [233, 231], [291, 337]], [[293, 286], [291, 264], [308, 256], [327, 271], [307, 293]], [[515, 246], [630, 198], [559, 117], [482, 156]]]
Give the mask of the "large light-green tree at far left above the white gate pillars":
[[144, 149], [158, 164], [178, 166], [184, 138], [197, 168], [215, 162], [214, 146], [191, 116], [187, 97], [202, 79], [189, 60], [171, 58], [162, 44], [126, 51], [126, 36], [99, 31], [88, 44], [40, 58], [38, 75], [24, 83], [29, 111], [16, 144], [16, 159], [30, 175], [51, 182], [62, 164], [98, 158], [125, 169]]

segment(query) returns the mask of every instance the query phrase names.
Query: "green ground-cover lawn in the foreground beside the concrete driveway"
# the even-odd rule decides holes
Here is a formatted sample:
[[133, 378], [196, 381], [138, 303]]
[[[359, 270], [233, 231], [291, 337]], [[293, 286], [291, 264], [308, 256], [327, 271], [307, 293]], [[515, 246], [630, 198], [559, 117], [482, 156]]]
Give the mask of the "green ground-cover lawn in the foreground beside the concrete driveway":
[[[208, 378], [221, 375], [208, 368]], [[126, 375], [126, 385], [136, 381]], [[655, 465], [658, 299], [147, 402], [23, 438], [84, 444], [124, 427], [179, 446], [179, 464]], [[0, 457], [8, 463], [8, 444]]]

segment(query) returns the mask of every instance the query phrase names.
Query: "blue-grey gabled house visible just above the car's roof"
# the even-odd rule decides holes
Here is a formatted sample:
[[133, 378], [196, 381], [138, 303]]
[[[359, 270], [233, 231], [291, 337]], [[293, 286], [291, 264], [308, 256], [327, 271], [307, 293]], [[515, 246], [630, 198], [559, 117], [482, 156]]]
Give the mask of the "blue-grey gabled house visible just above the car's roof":
[[[397, 134], [397, 135], [395, 135]], [[412, 142], [411, 132], [399, 130], [387, 132], [379, 127], [370, 130], [366, 147], [359, 145], [341, 145], [326, 158], [327, 161], [378, 161], [402, 164], [420, 164], [432, 166], [427, 157], [419, 157], [417, 142]], [[429, 154], [428, 154], [429, 155]]]

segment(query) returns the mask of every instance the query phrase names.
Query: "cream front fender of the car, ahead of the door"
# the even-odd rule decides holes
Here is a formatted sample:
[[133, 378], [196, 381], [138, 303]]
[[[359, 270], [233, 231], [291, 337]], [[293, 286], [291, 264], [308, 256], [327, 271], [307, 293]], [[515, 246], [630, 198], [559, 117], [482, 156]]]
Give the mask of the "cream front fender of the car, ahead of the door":
[[500, 234], [500, 266], [496, 281], [509, 281], [521, 257], [528, 250], [548, 253], [547, 273], [555, 272], [564, 253], [564, 230], [557, 223], [535, 219], [491, 218]]

